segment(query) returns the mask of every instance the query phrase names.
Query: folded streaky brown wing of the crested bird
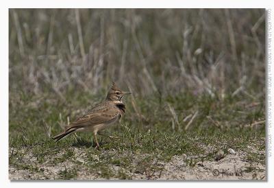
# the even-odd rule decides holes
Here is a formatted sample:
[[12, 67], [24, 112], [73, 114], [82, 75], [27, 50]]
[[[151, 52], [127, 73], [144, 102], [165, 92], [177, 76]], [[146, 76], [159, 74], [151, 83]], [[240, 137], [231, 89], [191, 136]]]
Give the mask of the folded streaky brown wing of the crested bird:
[[95, 126], [98, 124], [105, 124], [109, 121], [113, 121], [119, 117], [119, 109], [110, 106], [101, 106], [100, 108], [93, 108], [94, 110], [90, 111], [86, 115], [79, 117], [76, 121], [70, 124], [67, 128], [73, 127], [84, 127], [84, 126]]

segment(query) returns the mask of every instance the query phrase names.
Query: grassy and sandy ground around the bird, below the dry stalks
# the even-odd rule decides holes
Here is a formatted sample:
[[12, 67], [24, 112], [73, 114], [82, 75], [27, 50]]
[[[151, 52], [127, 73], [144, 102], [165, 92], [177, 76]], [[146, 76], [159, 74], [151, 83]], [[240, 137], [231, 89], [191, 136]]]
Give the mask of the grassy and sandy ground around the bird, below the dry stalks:
[[[29, 103], [34, 96], [14, 108], [13, 104], [18, 104], [14, 101], [10, 111], [11, 117], [16, 115], [10, 119], [10, 179], [266, 180], [264, 104], [252, 99], [182, 96], [162, 99], [169, 102], [162, 108], [152, 102], [155, 116], [145, 113], [152, 99], [136, 101], [142, 117], [133, 113], [128, 103], [121, 123], [103, 131], [119, 139], [99, 137], [100, 150], [95, 148], [91, 133], [72, 134], [58, 143], [51, 139], [66, 124], [67, 117], [62, 114], [69, 110], [62, 108], [62, 103], [49, 105], [51, 99]], [[79, 105], [77, 100], [72, 102]], [[24, 108], [27, 104], [29, 108]], [[168, 106], [177, 109], [178, 117], [173, 117]], [[192, 119], [194, 109], [199, 109], [199, 114]], [[47, 115], [40, 117], [41, 110]], [[71, 115], [82, 114], [71, 110]], [[181, 123], [174, 126], [173, 119]]]

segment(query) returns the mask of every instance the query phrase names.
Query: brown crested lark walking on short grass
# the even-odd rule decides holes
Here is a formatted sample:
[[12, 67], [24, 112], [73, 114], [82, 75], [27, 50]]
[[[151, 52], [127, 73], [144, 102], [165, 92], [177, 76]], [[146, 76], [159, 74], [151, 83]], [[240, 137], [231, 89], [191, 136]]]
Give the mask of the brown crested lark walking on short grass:
[[[121, 117], [125, 115], [125, 104], [123, 104], [122, 99], [127, 94], [131, 93], [121, 91], [121, 89], [119, 89], [118, 86], [112, 82], [108, 95], [101, 104], [98, 104], [89, 110], [88, 113], [82, 117], [77, 118], [71, 124], [66, 126], [63, 132], [60, 132], [60, 134], [57, 134], [52, 139], [57, 142], [72, 132], [92, 132], [93, 138], [96, 142], [96, 148], [100, 148], [97, 140], [97, 134], [106, 136], [104, 134], [100, 134], [99, 131], [110, 127], [117, 121], [121, 121]], [[117, 138], [112, 136], [108, 137]]]

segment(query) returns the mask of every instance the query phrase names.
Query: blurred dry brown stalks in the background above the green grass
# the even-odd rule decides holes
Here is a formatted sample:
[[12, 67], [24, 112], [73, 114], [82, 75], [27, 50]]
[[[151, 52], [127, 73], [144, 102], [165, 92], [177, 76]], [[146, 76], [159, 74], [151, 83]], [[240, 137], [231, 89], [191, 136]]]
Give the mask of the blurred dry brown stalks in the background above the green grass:
[[264, 10], [15, 9], [9, 27], [10, 91], [264, 95]]

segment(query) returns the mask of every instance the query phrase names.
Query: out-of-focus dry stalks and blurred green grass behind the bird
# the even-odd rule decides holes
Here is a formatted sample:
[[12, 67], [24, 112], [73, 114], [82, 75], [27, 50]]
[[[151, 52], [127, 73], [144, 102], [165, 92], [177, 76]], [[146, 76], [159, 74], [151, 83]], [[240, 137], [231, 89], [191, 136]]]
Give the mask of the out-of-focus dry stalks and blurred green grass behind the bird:
[[129, 124], [174, 131], [264, 123], [263, 9], [11, 9], [9, 16], [11, 133], [29, 124], [58, 132], [102, 100], [112, 81], [133, 93], [125, 99]]

